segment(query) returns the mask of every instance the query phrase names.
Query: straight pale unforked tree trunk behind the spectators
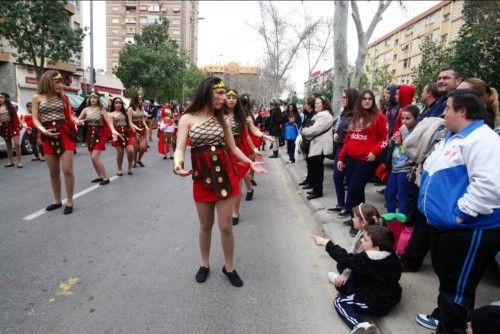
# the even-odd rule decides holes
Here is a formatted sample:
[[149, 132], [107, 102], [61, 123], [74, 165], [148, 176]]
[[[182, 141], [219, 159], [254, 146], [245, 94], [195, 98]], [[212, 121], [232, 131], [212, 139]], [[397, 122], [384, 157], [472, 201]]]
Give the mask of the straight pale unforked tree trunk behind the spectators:
[[340, 96], [347, 88], [347, 15], [349, 1], [335, 1], [335, 13], [333, 16], [333, 94], [332, 111], [339, 113], [341, 109]]

